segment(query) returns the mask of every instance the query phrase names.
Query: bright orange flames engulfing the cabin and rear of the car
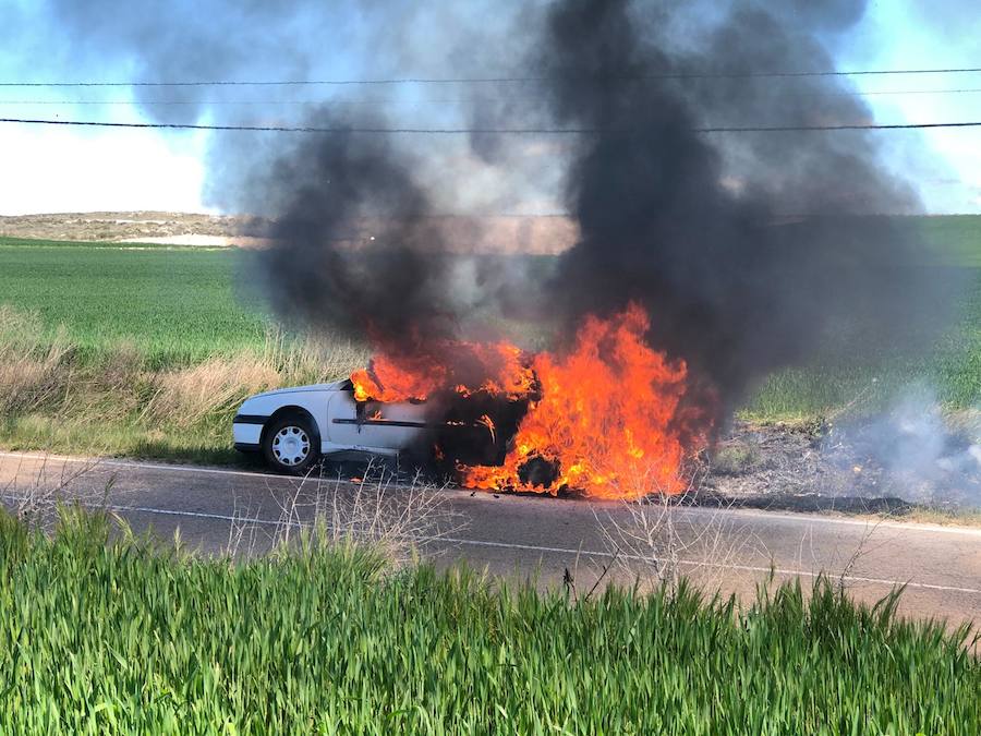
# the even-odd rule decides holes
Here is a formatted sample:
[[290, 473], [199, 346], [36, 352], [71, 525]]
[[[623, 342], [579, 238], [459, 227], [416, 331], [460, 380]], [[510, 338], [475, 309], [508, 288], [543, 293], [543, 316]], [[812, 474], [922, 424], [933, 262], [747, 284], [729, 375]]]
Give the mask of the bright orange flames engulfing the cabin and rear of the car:
[[[609, 318], [588, 316], [562, 354], [526, 358], [506, 342], [444, 345], [439, 354], [462, 361], [383, 355], [352, 378], [360, 400], [423, 399], [452, 387], [461, 398], [486, 391], [526, 401], [502, 464], [457, 464], [465, 487], [576, 490], [597, 498], [673, 494], [685, 487], [683, 461], [703, 444], [698, 429], [705, 423], [685, 408], [686, 364], [649, 347], [649, 328], [646, 312], [631, 303]], [[497, 441], [489, 414], [476, 422]]]

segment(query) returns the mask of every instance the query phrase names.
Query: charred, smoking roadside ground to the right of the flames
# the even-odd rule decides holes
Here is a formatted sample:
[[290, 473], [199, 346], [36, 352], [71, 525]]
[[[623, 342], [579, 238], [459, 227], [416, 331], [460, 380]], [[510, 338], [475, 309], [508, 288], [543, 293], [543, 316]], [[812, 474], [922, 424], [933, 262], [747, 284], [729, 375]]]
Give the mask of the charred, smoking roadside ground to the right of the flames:
[[737, 422], [698, 473], [693, 499], [703, 506], [981, 524], [981, 454], [970, 432], [896, 437], [870, 424]]

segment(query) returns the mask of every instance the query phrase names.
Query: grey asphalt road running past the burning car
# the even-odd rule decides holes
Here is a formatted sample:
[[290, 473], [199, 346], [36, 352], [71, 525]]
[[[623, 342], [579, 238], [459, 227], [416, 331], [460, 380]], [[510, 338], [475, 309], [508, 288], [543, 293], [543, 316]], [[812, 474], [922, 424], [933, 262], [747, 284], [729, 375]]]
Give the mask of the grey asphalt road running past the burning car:
[[11, 453], [0, 453], [0, 492], [7, 504], [44, 505], [57, 492], [108, 506], [136, 531], [172, 536], [179, 529], [205, 553], [261, 553], [326, 512], [341, 529], [411, 538], [438, 565], [465, 560], [540, 586], [571, 578], [580, 595], [597, 580], [646, 584], [679, 571], [748, 599], [770, 576], [799, 576], [809, 586], [824, 574], [869, 602], [905, 584], [906, 615], [981, 623], [981, 529], [424, 490], [336, 475], [301, 482]]

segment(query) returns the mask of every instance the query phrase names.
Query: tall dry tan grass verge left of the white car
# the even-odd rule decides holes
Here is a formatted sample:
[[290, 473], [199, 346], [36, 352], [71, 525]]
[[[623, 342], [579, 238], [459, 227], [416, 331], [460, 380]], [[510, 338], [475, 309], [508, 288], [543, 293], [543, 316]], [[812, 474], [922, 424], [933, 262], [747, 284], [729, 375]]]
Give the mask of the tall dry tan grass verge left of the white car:
[[334, 381], [365, 360], [349, 341], [270, 331], [257, 350], [155, 367], [132, 343], [90, 354], [0, 306], [0, 446], [222, 461], [246, 397]]

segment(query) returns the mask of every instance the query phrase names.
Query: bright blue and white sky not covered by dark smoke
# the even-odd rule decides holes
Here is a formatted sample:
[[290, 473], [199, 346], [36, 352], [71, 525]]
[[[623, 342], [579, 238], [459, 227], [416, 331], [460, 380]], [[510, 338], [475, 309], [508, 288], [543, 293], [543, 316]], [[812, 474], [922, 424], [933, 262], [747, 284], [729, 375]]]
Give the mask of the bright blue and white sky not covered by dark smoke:
[[[80, 47], [60, 36], [52, 12], [43, 2], [0, 0], [0, 21], [8, 27], [13, 24], [15, 29], [11, 41], [0, 47], [0, 81], [96, 75], [119, 80], [137, 73], [132, 59], [121, 56], [101, 60], [96, 58], [98, 44]], [[465, 14], [460, 20], [475, 22]], [[365, 22], [377, 22], [377, 17]], [[344, 27], [323, 35], [324, 53], [316, 69], [294, 65], [270, 70], [263, 62], [264, 50], [257, 49], [254, 59], [242, 62], [242, 75], [361, 75], [361, 70], [351, 63], [348, 48], [356, 47], [362, 39], [356, 27], [341, 25]], [[98, 32], [93, 31], [96, 38]], [[977, 2], [968, 0], [871, 2], [865, 16], [839, 39], [836, 48], [838, 68], [844, 70], [981, 67], [981, 11]], [[429, 59], [424, 70], [389, 67], [372, 71], [392, 76], [458, 73], [450, 60], [443, 60], [440, 69], [438, 59]], [[865, 99], [882, 123], [981, 121], [981, 73], [862, 76], [855, 79], [855, 85], [868, 93]], [[214, 95], [221, 105], [211, 108], [203, 121], [281, 122], [302, 109], [298, 102], [325, 94], [328, 93], [317, 87], [221, 91]], [[423, 125], [441, 119], [440, 95], [446, 96], [438, 91], [396, 93], [377, 88], [346, 88], [334, 94], [344, 105], [393, 106], [400, 119]], [[420, 105], [419, 97], [428, 101]], [[0, 88], [0, 117], [148, 120], [143, 111], [147, 108], [140, 108], [134, 101], [133, 92], [125, 87], [7, 87]], [[158, 120], [168, 116], [179, 119], [186, 111], [180, 105], [150, 109], [159, 110], [155, 112]], [[772, 122], [775, 121], [761, 121]], [[0, 124], [0, 214], [216, 210], [206, 185], [210, 135], [228, 134]], [[981, 213], [981, 128], [904, 131], [881, 136], [887, 165], [915, 182], [928, 212]], [[474, 171], [475, 176], [488, 176], [476, 168]]]

